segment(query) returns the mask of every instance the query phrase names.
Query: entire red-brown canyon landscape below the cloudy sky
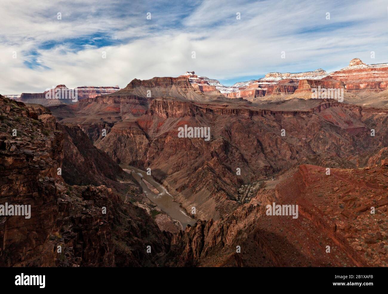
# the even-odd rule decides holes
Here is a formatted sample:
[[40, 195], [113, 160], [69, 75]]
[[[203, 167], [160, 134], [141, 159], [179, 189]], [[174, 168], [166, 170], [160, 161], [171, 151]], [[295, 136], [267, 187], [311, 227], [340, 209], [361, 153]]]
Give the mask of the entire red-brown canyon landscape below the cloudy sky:
[[[232, 87], [186, 72], [74, 103], [1, 96], [0, 204], [33, 217], [0, 217], [0, 265], [387, 266], [387, 70], [353, 59]], [[344, 101], [311, 99], [317, 87]], [[267, 215], [274, 202], [298, 218]]]

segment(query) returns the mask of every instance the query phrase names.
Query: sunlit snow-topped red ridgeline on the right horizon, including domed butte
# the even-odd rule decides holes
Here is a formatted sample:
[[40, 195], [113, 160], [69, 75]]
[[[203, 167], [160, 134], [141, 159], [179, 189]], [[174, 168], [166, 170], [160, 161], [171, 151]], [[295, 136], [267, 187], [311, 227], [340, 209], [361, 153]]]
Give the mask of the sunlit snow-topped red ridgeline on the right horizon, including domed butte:
[[[275, 99], [279, 94], [311, 93], [312, 88], [342, 88], [346, 91], [384, 91], [388, 84], [388, 64], [363, 63], [359, 58], [350, 61], [349, 66], [329, 74], [322, 69], [300, 73], [267, 73], [265, 77], [235, 85], [237, 91], [225, 93], [230, 98], [242, 97], [248, 100]], [[298, 97], [298, 95], [294, 95]], [[265, 98], [262, 98], [265, 97]], [[308, 96], [300, 96], [308, 98]]]

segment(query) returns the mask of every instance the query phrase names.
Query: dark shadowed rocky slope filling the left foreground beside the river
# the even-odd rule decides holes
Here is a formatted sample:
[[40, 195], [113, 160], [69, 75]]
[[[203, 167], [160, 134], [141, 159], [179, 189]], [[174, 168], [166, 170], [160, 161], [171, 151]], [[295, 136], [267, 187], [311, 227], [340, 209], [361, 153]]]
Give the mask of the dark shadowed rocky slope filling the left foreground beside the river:
[[[111, 184], [109, 176], [115, 176], [118, 167], [105, 153], [78, 127], [55, 125], [45, 108], [0, 96], [0, 111], [0, 204], [31, 205], [29, 218], [0, 217], [1, 266], [158, 264], [168, 250], [170, 235], [161, 233], [151, 216], [115, 192], [120, 184]], [[14, 129], [17, 136], [12, 137]], [[113, 189], [70, 186], [64, 181], [88, 184], [87, 177]], [[139, 193], [131, 180], [125, 185], [135, 187], [130, 193]], [[145, 253], [147, 245], [155, 255]]]

